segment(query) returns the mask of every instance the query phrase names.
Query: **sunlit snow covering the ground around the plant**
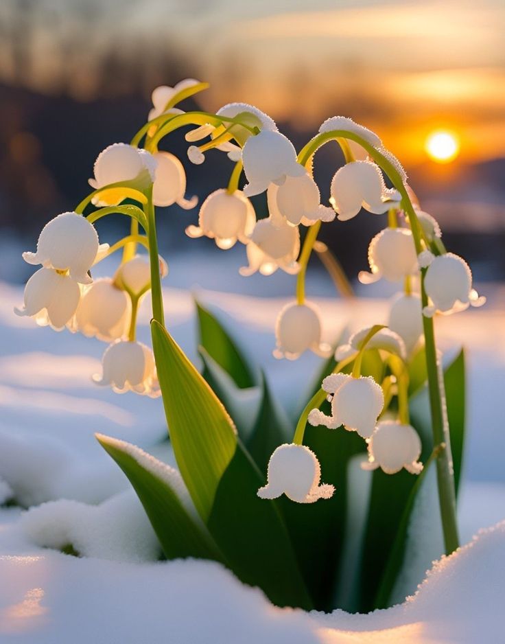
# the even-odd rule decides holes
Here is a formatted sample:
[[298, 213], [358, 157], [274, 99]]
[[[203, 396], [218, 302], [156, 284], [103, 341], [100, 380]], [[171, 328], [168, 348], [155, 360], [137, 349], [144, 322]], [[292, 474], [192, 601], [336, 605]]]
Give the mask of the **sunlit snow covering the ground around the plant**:
[[[174, 288], [165, 295], [169, 330], [198, 360], [191, 295]], [[264, 367], [292, 417], [320, 360], [307, 354], [296, 368], [292, 363], [287, 368], [272, 357], [274, 321], [290, 300], [219, 292], [198, 297], [225, 311], [222, 319]], [[55, 334], [15, 317], [12, 308], [21, 300], [21, 288], [0, 283], [0, 503], [14, 498], [30, 507], [27, 512], [0, 508], [2, 644], [505, 641], [504, 523], [436, 564], [413, 599], [366, 616], [281, 610], [218, 564], [155, 562], [159, 548], [149, 522], [94, 433], [132, 442], [174, 465], [161, 400], [96, 387], [91, 374], [99, 371], [104, 343]], [[387, 317], [384, 299], [358, 299], [351, 307], [336, 299], [316, 303], [323, 312], [322, 340], [331, 343], [345, 326], [356, 330]], [[149, 341], [149, 317], [146, 301], [140, 341]], [[471, 349], [469, 440], [459, 505], [467, 542], [481, 527], [505, 519], [505, 312], [495, 305], [436, 324], [443, 345], [454, 349], [465, 343]], [[430, 476], [423, 488], [414, 516], [421, 524], [423, 513], [438, 511]], [[360, 517], [354, 520], [359, 523]], [[54, 550], [69, 542], [84, 557]], [[440, 534], [432, 533], [421, 546], [412, 551], [415, 565], [397, 584], [399, 601], [414, 593], [438, 558]]]

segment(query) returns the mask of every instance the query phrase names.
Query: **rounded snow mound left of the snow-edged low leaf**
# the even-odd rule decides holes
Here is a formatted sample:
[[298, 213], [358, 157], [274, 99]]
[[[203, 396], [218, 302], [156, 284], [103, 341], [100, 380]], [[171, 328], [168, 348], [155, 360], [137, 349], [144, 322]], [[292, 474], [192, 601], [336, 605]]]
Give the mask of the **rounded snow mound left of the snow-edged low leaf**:
[[20, 520], [27, 538], [40, 547], [71, 545], [80, 555], [123, 562], [156, 561], [161, 553], [148, 517], [132, 490], [100, 505], [49, 501]]

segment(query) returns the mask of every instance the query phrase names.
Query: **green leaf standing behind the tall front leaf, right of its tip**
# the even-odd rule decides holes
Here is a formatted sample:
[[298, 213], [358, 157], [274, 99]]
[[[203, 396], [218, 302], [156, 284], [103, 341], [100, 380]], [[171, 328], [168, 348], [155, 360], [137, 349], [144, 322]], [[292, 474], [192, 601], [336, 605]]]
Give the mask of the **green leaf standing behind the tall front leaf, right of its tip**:
[[[257, 382], [253, 369], [248, 365], [246, 358], [232, 340], [229, 334], [224, 330], [223, 325], [204, 308], [198, 301], [196, 302], [198, 313], [198, 325], [200, 328], [200, 344], [207, 351], [209, 356], [215, 360], [224, 371], [227, 371], [233, 378], [237, 387], [246, 389], [254, 387]], [[204, 374], [205, 376], [205, 374]]]

